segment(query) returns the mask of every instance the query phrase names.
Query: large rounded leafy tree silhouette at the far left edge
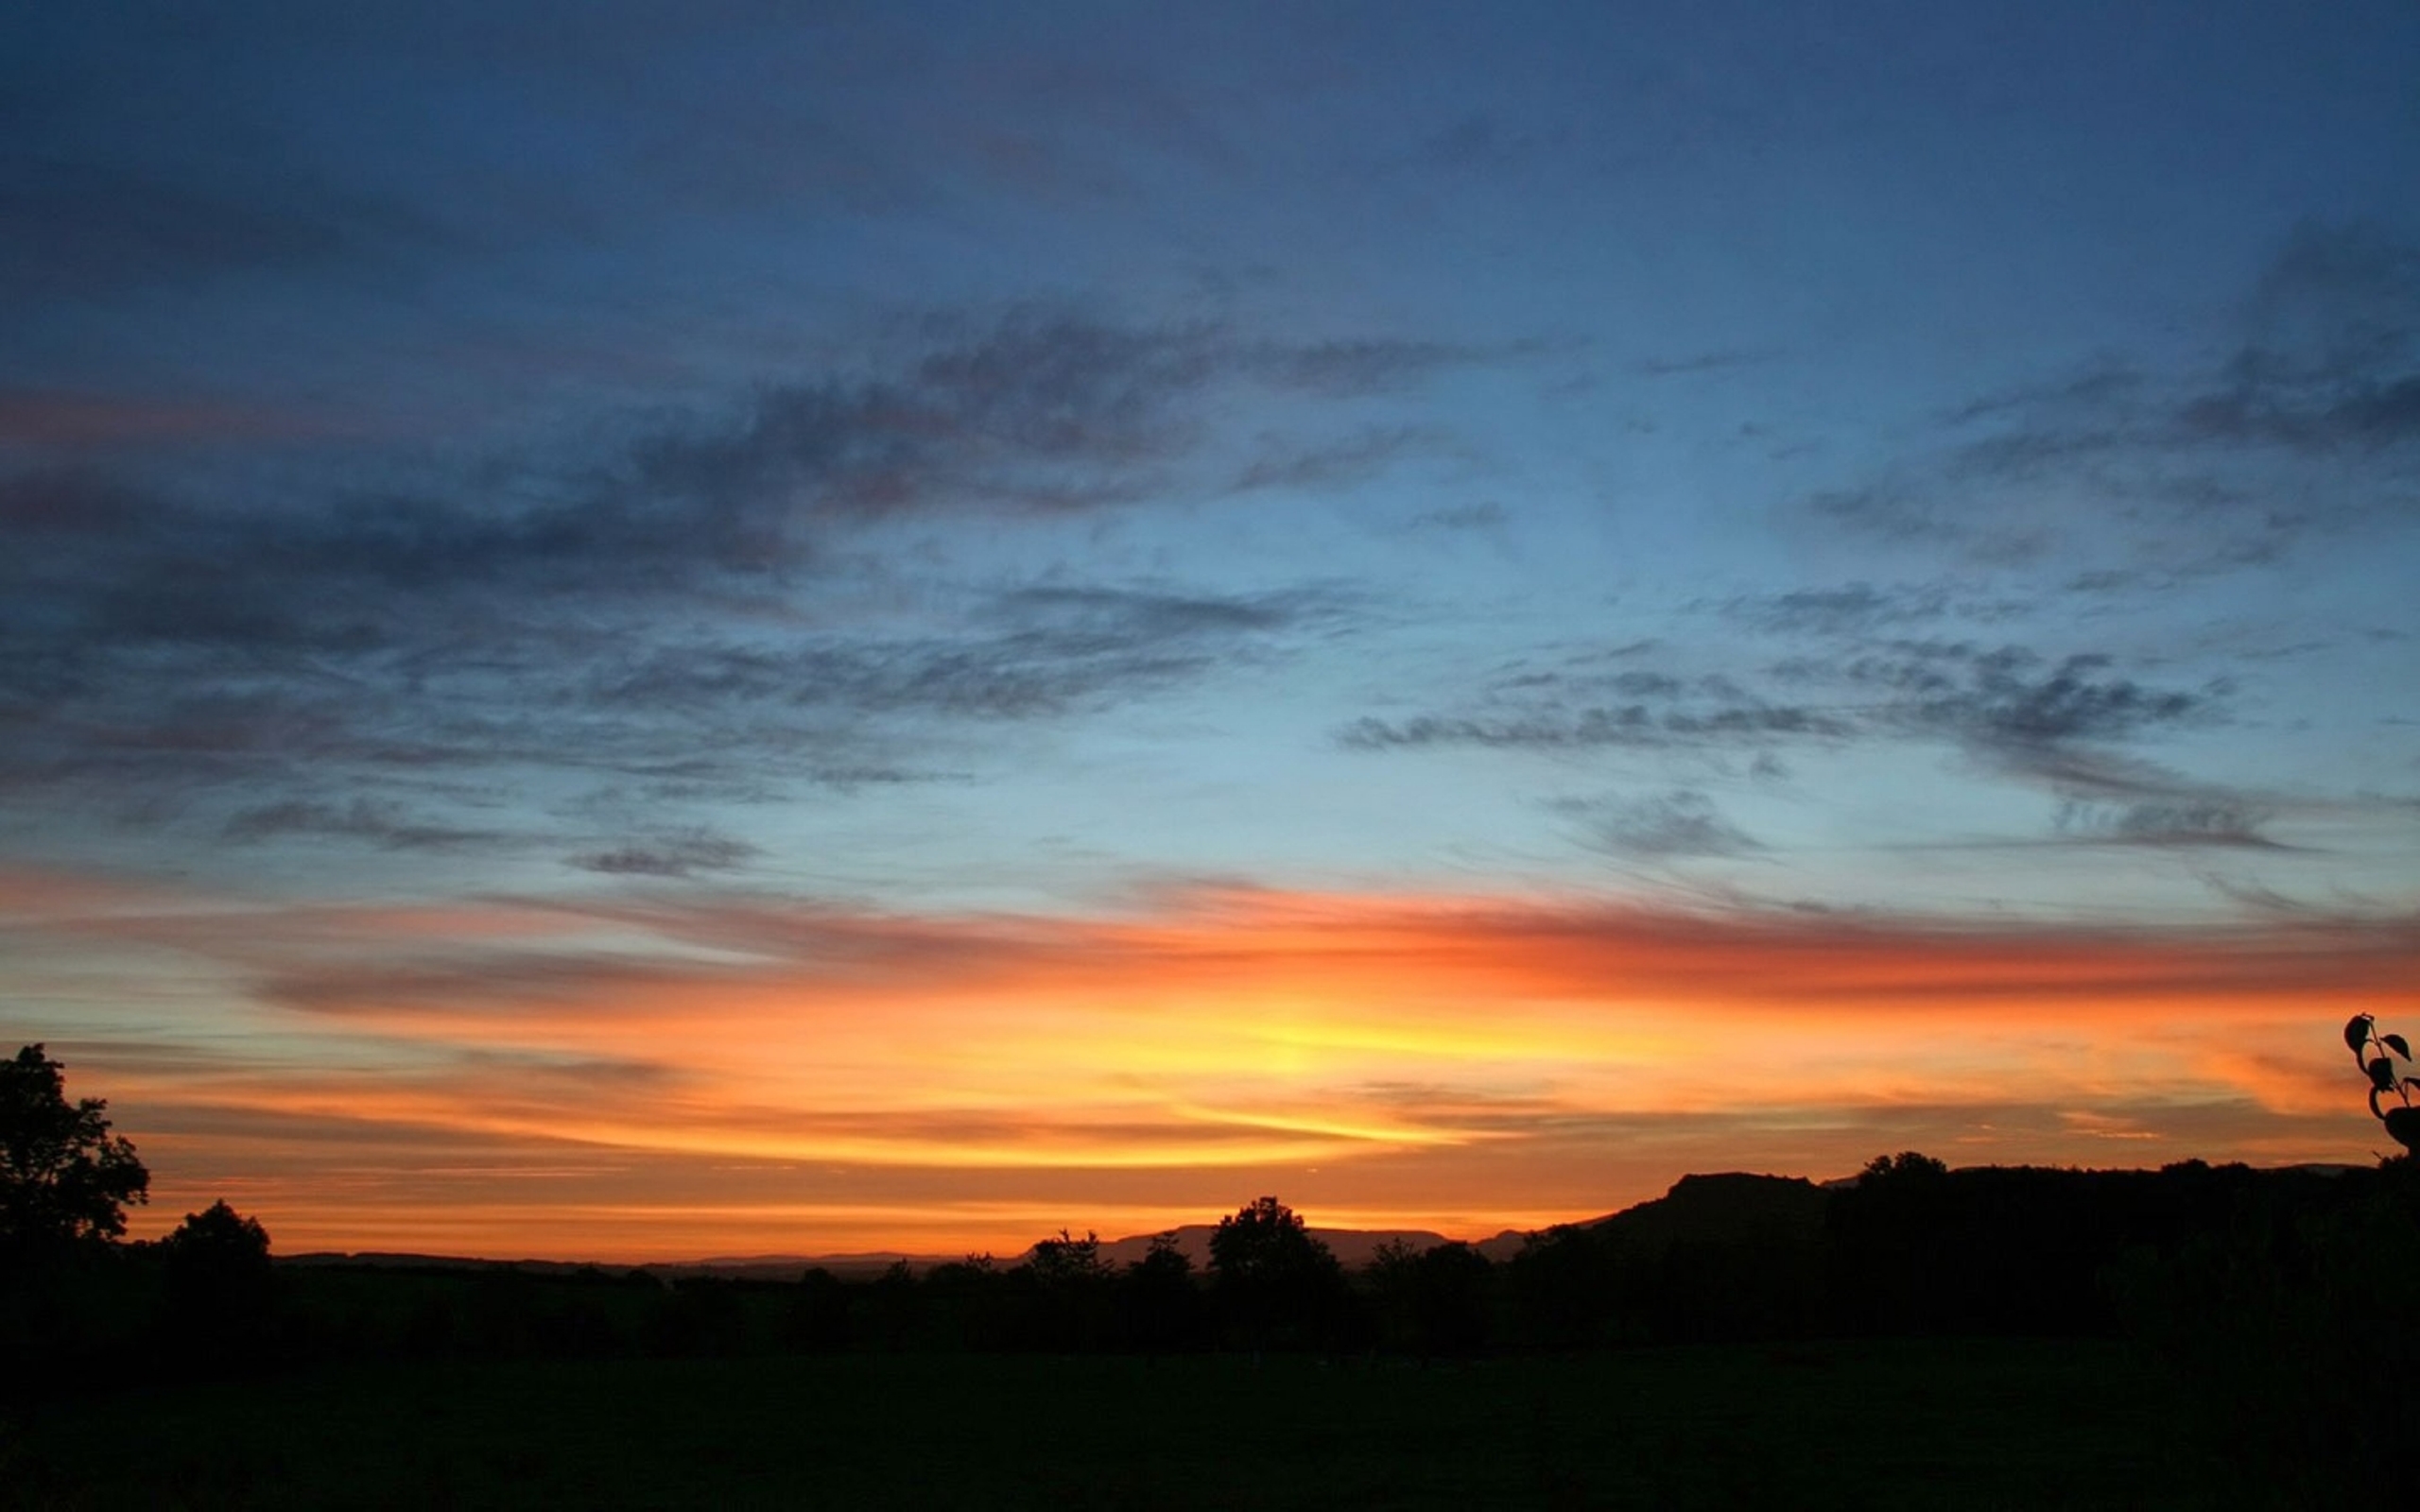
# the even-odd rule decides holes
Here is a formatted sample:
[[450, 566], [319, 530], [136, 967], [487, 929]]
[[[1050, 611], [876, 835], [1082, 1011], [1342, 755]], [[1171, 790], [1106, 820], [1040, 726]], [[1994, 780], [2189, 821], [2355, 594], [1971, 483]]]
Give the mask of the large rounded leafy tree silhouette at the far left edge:
[[70, 1103], [60, 1072], [41, 1045], [0, 1062], [0, 1265], [119, 1239], [126, 1205], [150, 1200], [150, 1171], [102, 1115], [109, 1103]]

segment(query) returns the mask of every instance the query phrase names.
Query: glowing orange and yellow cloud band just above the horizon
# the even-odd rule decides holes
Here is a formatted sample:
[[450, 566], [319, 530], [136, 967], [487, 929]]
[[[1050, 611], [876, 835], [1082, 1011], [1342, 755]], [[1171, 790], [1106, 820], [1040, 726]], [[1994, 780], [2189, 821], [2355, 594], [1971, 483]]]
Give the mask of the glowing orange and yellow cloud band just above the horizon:
[[[1258, 1190], [1319, 1222], [1493, 1231], [1692, 1168], [1832, 1176], [1902, 1147], [2364, 1159], [2335, 1023], [2420, 982], [2401, 919], [44, 898], [0, 895], [51, 956], [99, 951], [99, 973], [148, 946], [223, 982], [56, 1045], [152, 1159], [155, 1219], [235, 1183], [315, 1243], [603, 1258], [983, 1248]], [[329, 1139], [361, 1159], [305, 1159]]]

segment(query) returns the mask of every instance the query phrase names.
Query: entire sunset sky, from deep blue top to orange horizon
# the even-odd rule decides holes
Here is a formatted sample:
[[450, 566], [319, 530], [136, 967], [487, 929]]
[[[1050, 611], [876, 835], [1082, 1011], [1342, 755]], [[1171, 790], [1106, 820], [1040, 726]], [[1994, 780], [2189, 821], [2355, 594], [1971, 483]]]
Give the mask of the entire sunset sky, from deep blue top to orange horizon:
[[0, 1038], [281, 1251], [2367, 1161], [2420, 12], [0, 19]]

